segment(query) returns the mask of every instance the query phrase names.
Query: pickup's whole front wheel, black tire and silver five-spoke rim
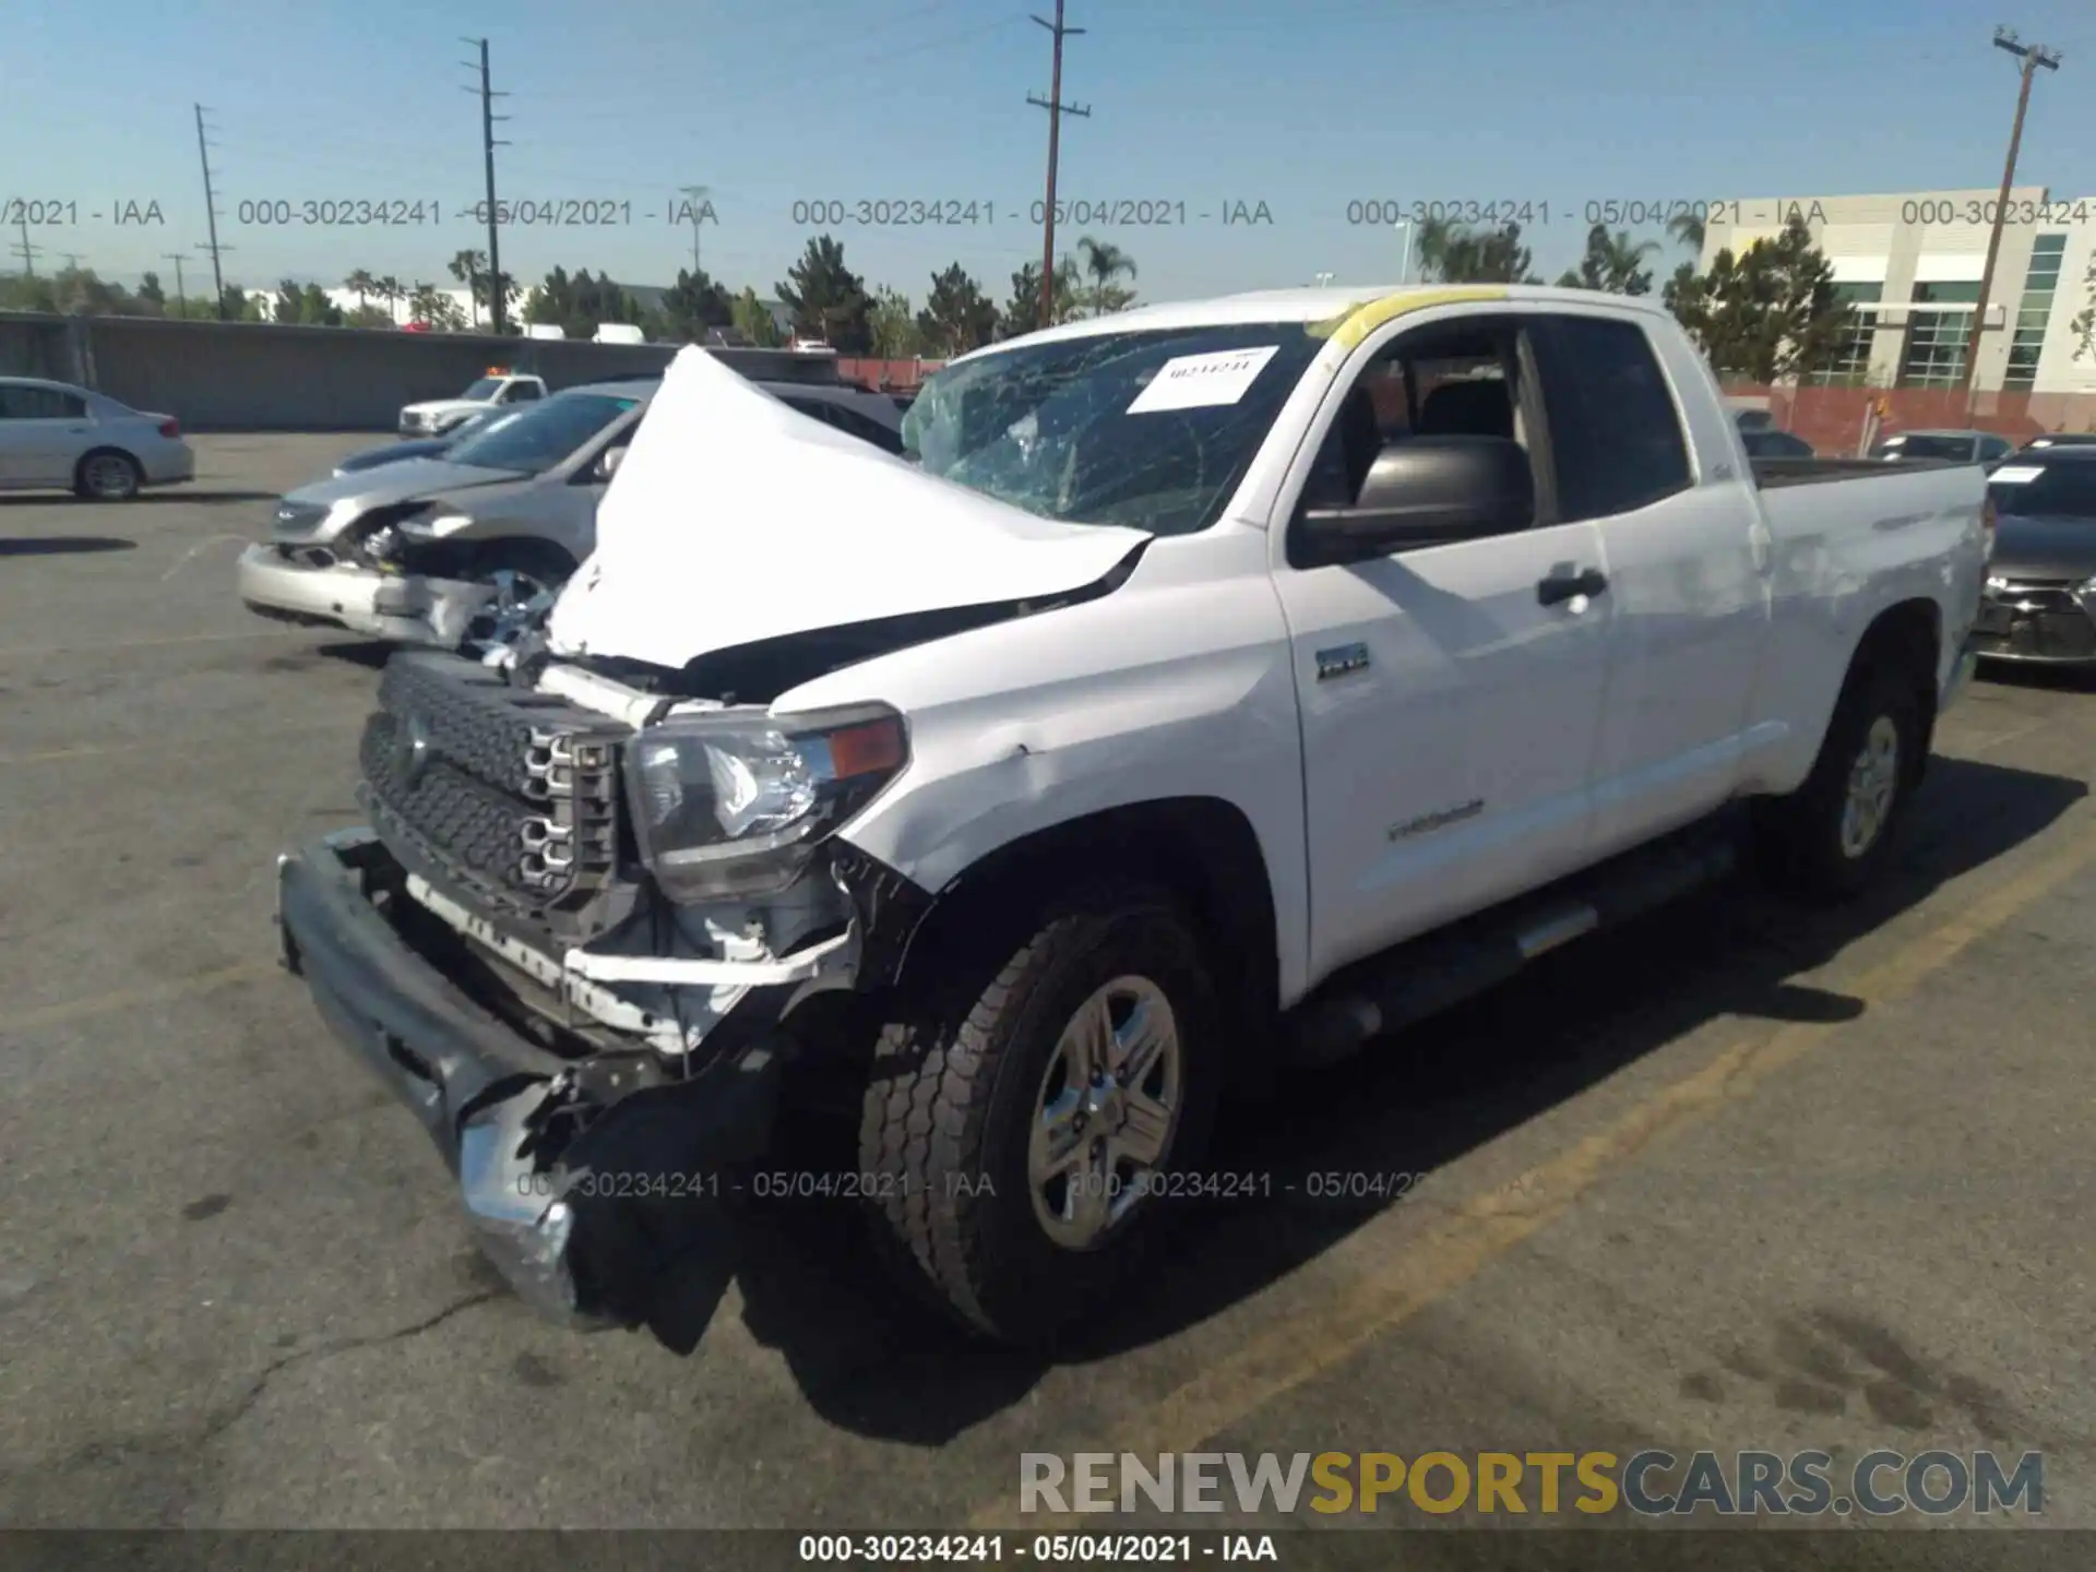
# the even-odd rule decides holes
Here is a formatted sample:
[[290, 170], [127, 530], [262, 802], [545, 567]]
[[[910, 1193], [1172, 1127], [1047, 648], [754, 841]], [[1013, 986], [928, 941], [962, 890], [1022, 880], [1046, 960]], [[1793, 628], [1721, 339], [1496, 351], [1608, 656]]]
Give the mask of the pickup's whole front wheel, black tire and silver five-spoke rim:
[[[983, 970], [991, 970], [987, 979]], [[1138, 1262], [1207, 1142], [1220, 1014], [1159, 891], [1054, 908], [1002, 964], [905, 1002], [859, 1132], [885, 1253], [968, 1327], [1044, 1341]]]

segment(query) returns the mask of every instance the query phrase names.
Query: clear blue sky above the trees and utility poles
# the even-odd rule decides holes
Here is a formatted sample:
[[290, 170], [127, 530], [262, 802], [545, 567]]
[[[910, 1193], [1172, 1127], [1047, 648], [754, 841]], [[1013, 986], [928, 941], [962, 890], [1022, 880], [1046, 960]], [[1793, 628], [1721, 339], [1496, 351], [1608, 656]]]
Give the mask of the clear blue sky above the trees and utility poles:
[[[1033, 0], [1048, 13], [1054, 0]], [[2096, 195], [2096, 8], [2067, 0], [1069, 0], [1063, 197], [1184, 203], [1188, 224], [1102, 228], [1142, 298], [1379, 283], [1400, 239], [1348, 222], [1371, 197], [1524, 199], [1536, 268], [1574, 260], [1589, 199], [1673, 201], [1993, 187], [2014, 109], [1995, 21], [2065, 50], [2042, 73], [2021, 184]], [[451, 283], [484, 233], [480, 107], [461, 36], [488, 36], [507, 197], [631, 203], [631, 224], [509, 228], [526, 283], [553, 264], [669, 283], [692, 231], [664, 222], [706, 184], [702, 252], [769, 296], [809, 228], [805, 199], [996, 205], [975, 226], [847, 224], [851, 266], [922, 296], [962, 262], [1002, 300], [1040, 256], [1048, 34], [1023, 0], [199, 0], [13, 6], [0, 195], [78, 203], [31, 228], [40, 270], [107, 277], [187, 252], [208, 279], [191, 105], [216, 143], [228, 281], [340, 281], [356, 266]], [[1052, 15], [1052, 13], [1048, 13]], [[161, 226], [117, 226], [157, 201]], [[243, 201], [440, 203], [442, 226], [268, 228]], [[1224, 203], [1270, 224], [1224, 226]], [[1199, 214], [1216, 214], [1207, 222]], [[103, 214], [96, 220], [92, 214]], [[648, 216], [654, 218], [648, 218]], [[19, 231], [8, 231], [13, 247]], [[1061, 237], [1058, 237], [1061, 239]], [[1067, 235], [1075, 241], [1075, 233]], [[1671, 264], [1675, 258], [1668, 256]], [[19, 268], [19, 260], [10, 260]]]

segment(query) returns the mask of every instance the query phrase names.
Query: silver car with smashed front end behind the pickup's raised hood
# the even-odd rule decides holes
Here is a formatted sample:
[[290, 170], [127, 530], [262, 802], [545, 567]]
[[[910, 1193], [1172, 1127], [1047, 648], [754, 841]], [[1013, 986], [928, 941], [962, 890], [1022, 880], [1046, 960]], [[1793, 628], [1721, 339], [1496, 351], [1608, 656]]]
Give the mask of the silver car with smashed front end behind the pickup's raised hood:
[[[658, 386], [568, 388], [495, 411], [438, 455], [287, 493], [270, 541], [239, 560], [241, 602], [275, 620], [440, 650], [509, 637], [595, 547], [597, 503]], [[767, 386], [801, 413], [901, 451], [901, 411], [880, 394]]]

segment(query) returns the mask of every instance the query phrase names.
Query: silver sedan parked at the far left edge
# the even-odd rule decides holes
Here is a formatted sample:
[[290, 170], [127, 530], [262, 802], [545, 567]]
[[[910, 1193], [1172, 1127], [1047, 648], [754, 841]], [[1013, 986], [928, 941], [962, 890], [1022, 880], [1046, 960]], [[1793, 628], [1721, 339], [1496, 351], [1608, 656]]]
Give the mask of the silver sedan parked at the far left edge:
[[195, 478], [197, 455], [174, 415], [69, 381], [0, 377], [0, 490], [65, 488], [115, 503]]

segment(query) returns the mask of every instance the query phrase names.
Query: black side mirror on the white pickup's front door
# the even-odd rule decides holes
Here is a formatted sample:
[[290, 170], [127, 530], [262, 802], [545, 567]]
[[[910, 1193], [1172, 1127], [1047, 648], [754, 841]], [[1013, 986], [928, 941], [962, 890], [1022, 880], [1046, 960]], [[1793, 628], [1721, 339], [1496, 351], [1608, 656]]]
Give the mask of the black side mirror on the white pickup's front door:
[[1325, 568], [1526, 530], [1536, 520], [1528, 451], [1507, 436], [1413, 436], [1375, 455], [1350, 507], [1308, 507], [1289, 564]]

